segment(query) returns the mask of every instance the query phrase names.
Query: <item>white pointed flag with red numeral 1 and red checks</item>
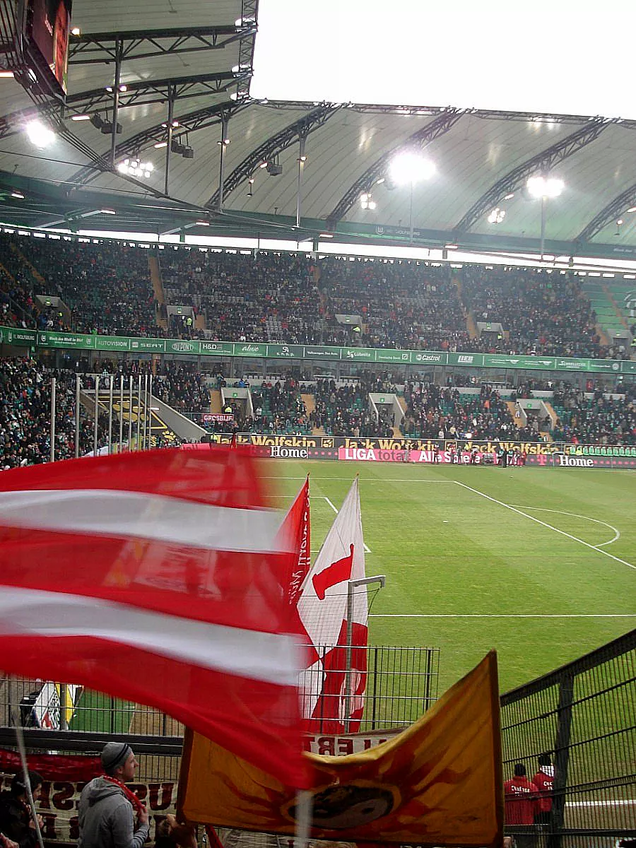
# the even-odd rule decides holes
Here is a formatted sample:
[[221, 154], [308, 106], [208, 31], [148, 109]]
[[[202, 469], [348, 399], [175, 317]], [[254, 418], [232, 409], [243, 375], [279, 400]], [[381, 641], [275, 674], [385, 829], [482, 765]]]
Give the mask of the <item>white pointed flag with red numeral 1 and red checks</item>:
[[356, 477], [298, 599], [300, 620], [312, 646], [301, 685], [304, 724], [312, 732], [343, 733], [345, 722], [349, 722], [350, 733], [360, 728], [368, 643], [365, 589], [354, 592], [349, 698], [345, 647], [348, 583], [360, 577], [365, 577], [365, 543]]

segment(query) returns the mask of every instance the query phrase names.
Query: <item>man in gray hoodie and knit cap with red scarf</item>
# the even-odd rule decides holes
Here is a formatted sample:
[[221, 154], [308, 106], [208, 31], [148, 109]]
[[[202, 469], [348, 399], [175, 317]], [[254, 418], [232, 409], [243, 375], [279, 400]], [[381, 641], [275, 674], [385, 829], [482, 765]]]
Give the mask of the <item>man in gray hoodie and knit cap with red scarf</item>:
[[142, 848], [148, 838], [148, 810], [126, 786], [139, 765], [131, 746], [109, 742], [102, 765], [102, 777], [93, 778], [81, 792], [78, 848]]

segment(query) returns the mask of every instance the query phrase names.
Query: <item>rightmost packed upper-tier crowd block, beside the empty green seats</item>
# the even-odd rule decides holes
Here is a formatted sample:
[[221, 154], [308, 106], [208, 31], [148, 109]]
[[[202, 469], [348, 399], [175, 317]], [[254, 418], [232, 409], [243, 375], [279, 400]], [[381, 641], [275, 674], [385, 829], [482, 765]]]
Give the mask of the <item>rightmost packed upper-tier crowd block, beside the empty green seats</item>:
[[467, 350], [615, 359], [625, 355], [625, 350], [600, 344], [596, 314], [576, 275], [464, 265], [460, 279], [466, 308], [476, 323], [500, 324], [504, 331], [483, 332], [471, 339]]

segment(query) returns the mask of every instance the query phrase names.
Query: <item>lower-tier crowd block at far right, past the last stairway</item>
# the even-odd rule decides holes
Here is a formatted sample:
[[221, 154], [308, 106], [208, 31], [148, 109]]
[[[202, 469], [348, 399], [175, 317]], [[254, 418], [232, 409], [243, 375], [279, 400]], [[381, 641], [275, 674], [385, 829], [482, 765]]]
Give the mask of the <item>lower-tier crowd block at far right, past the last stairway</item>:
[[555, 442], [573, 444], [636, 444], [636, 388], [621, 398], [598, 389], [590, 397], [575, 388], [555, 391], [558, 416], [552, 431]]

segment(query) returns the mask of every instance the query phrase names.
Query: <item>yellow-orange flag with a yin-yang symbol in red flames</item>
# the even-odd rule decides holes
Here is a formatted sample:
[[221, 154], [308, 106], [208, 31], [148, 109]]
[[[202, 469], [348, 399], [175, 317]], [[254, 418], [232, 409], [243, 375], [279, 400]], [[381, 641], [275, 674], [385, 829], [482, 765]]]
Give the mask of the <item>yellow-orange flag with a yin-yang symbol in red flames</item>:
[[[312, 839], [499, 848], [496, 654], [388, 742], [349, 756], [305, 756], [313, 769]], [[296, 790], [198, 734], [187, 734], [179, 799], [192, 822], [294, 833]]]

